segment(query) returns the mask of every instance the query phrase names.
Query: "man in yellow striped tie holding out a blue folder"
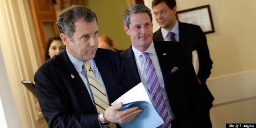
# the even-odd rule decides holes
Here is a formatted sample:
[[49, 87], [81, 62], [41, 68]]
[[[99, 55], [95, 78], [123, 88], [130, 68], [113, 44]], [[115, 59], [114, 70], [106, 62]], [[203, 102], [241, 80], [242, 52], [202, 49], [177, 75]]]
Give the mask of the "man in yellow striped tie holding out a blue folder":
[[[138, 107], [119, 111], [122, 103], [109, 106], [130, 86], [121, 56], [97, 49], [96, 14], [87, 7], [71, 6], [59, 15], [57, 26], [66, 49], [44, 63], [34, 77], [49, 128], [115, 127], [113, 123], [134, 119], [141, 112]], [[101, 93], [95, 93], [97, 89], [93, 88]], [[99, 94], [104, 95], [98, 97]], [[100, 98], [106, 100], [97, 100]]]

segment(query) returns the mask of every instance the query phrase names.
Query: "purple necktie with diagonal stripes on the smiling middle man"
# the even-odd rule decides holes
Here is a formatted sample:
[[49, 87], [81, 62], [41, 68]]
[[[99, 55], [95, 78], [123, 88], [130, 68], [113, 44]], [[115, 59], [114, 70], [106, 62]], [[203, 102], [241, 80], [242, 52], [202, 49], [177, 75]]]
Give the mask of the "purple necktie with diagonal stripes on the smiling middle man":
[[164, 124], [162, 124], [158, 128], [170, 128], [170, 119], [168, 117], [166, 104], [163, 99], [163, 94], [161, 92], [161, 87], [152, 60], [150, 59], [148, 52], [141, 53], [141, 56], [144, 57], [146, 60], [146, 75], [150, 96], [157, 108], [158, 114], [164, 121]]

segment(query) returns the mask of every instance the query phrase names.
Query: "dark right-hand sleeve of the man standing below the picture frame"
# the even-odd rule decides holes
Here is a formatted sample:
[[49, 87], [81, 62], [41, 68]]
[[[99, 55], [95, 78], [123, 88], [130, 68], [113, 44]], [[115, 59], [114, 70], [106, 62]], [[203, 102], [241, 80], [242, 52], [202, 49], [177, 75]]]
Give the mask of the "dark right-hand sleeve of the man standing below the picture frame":
[[209, 49], [207, 46], [207, 39], [205, 34], [203, 33], [202, 29], [197, 26], [197, 52], [199, 57], [199, 72], [197, 74], [197, 77], [201, 80], [202, 83], [206, 82], [206, 79], [211, 74], [212, 69], [212, 60], [210, 58]]

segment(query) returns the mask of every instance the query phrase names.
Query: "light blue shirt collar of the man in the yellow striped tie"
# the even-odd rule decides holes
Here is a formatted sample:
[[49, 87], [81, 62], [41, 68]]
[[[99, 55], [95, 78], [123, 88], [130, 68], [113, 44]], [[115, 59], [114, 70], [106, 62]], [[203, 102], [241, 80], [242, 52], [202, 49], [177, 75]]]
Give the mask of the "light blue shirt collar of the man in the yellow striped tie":
[[[70, 59], [70, 61], [72, 62], [72, 64], [75, 66], [76, 69], [78, 69], [80, 72], [82, 71], [83, 69], [83, 64], [84, 62], [82, 60], [79, 60], [77, 59], [76, 57], [74, 57], [73, 55], [71, 55], [69, 52], [68, 52], [68, 49], [66, 47], [66, 51], [67, 51], [67, 54], [68, 54], [68, 57]], [[92, 68], [92, 70], [94, 69], [94, 66], [95, 66], [95, 62], [93, 59], [91, 60], [88, 60], [88, 62], [90, 62], [90, 67]], [[94, 70], [93, 70], [94, 71]]]

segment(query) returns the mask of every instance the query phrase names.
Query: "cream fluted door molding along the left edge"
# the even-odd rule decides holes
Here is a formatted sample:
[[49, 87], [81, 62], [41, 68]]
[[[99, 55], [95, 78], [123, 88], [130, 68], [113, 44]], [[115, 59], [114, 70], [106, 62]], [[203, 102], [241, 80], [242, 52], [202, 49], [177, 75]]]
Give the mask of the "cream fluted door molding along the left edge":
[[33, 81], [42, 64], [29, 1], [1, 0], [0, 15], [0, 48], [20, 126], [35, 128], [43, 116], [35, 109], [36, 97], [21, 83]]

